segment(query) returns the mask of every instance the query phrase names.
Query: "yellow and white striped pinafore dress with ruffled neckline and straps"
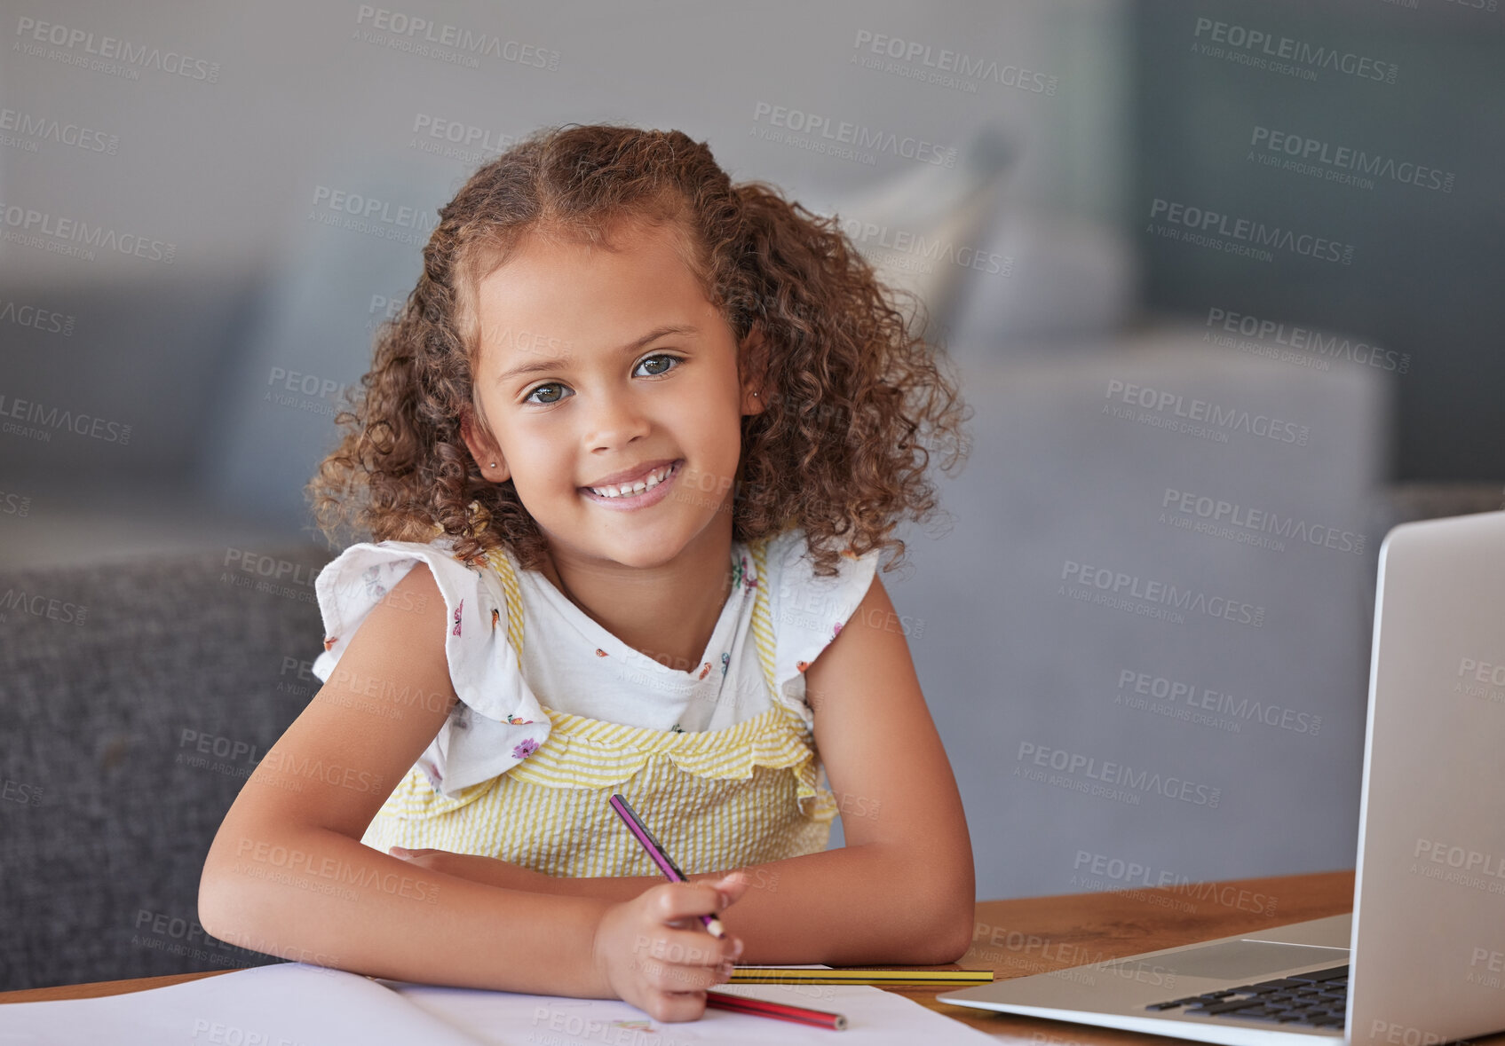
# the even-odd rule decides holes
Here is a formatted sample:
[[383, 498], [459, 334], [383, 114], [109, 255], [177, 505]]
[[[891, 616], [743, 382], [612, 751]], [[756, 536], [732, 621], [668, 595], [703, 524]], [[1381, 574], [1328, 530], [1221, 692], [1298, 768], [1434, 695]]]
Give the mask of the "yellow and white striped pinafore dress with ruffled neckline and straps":
[[[766, 543], [749, 544], [759, 580]], [[501, 552], [507, 642], [524, 642], [522, 598]], [[552, 729], [531, 756], [453, 798], [414, 766], [363, 843], [494, 857], [552, 876], [658, 876], [608, 806], [628, 798], [686, 875], [826, 849], [837, 804], [819, 781], [814, 736], [775, 693], [768, 585], [756, 589], [752, 633], [772, 706], [718, 730], [623, 726], [543, 706]]]

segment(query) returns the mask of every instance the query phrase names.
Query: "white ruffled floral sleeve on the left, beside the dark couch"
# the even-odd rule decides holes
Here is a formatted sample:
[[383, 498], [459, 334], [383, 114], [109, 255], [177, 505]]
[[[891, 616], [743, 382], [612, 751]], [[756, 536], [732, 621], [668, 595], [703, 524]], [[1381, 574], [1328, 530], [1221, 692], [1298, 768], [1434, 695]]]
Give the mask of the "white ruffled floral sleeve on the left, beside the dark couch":
[[351, 546], [315, 579], [324, 652], [313, 675], [339, 675], [340, 655], [366, 615], [418, 562], [427, 564], [444, 598], [444, 657], [461, 705], [417, 765], [436, 791], [455, 798], [531, 756], [552, 726], [507, 642], [507, 601], [495, 571], [465, 567], [442, 538]]

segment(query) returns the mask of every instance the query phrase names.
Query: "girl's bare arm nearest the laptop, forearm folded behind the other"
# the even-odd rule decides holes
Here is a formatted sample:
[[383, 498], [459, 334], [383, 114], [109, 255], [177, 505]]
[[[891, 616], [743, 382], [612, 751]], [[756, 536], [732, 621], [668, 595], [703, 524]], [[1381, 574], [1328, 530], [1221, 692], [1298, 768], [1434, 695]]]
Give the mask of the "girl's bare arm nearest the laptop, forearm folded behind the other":
[[[746, 944], [742, 962], [939, 965], [972, 942], [975, 881], [962, 797], [897, 622], [874, 577], [805, 670], [846, 846], [745, 869], [751, 888], [722, 915]], [[483, 857], [418, 855], [412, 866], [555, 897], [628, 900], [661, 882], [552, 878]]]

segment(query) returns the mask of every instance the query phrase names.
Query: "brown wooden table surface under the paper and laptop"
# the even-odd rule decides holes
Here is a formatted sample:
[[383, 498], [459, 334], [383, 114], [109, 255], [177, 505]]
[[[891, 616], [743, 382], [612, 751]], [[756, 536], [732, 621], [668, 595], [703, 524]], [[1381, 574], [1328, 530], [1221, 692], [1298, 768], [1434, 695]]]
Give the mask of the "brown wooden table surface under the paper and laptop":
[[[977, 903], [972, 947], [959, 963], [905, 969], [986, 968], [999, 980], [1007, 980], [1348, 911], [1353, 911], [1353, 872], [1189, 884], [1159, 890], [981, 900]], [[120, 995], [224, 972], [229, 971], [0, 992], [0, 1002]], [[951, 987], [888, 990], [898, 992], [926, 1008], [962, 1020], [995, 1038], [1034, 1046], [1186, 1041], [936, 1002], [935, 996], [953, 990]], [[1469, 1041], [1473, 1046], [1505, 1044], [1505, 1034]]]

